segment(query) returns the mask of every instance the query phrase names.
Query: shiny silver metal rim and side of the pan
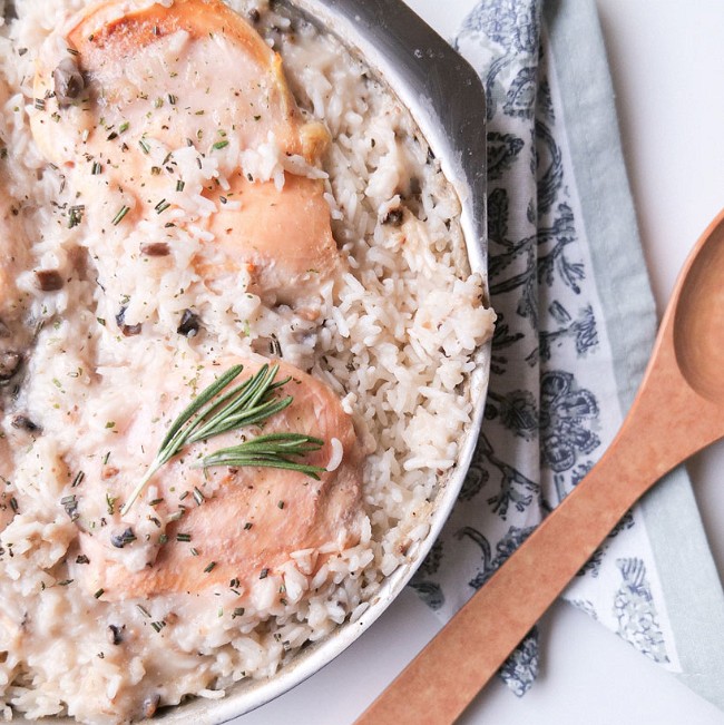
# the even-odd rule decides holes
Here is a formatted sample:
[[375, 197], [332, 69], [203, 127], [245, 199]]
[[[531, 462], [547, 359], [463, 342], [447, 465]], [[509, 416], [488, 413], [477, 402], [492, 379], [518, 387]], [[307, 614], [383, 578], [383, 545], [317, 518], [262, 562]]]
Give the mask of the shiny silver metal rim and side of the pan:
[[[410, 110], [460, 198], [469, 264], [486, 281], [488, 303], [486, 100], [476, 72], [402, 0], [285, 0], [282, 4], [323, 32], [337, 36]], [[12, 3], [8, 3], [6, 13], [12, 13]], [[461, 441], [457, 466], [440, 481], [430, 532], [388, 578], [366, 611], [356, 621], [346, 623], [329, 637], [304, 647], [274, 677], [241, 682], [219, 700], [189, 699], [159, 711], [153, 722], [215, 725], [260, 707], [329, 664], [390, 606], [438, 538], [464, 481], [482, 421], [490, 343], [477, 352], [476, 362], [470, 380], [473, 419]]]

